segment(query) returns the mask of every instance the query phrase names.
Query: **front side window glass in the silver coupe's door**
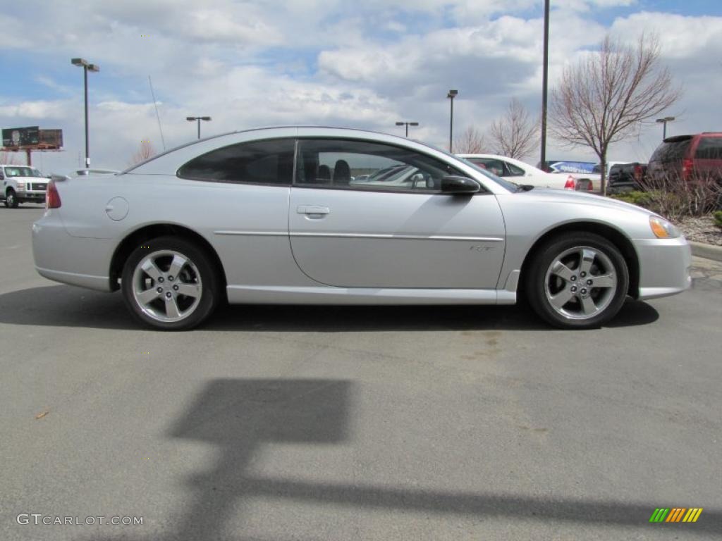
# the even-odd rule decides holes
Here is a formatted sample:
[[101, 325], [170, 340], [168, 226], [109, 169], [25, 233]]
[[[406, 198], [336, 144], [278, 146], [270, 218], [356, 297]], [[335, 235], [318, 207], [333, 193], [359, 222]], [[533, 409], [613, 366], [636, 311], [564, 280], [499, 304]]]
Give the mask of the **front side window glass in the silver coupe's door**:
[[347, 139], [300, 139], [298, 186], [349, 190], [438, 192], [441, 179], [461, 172], [399, 146]]

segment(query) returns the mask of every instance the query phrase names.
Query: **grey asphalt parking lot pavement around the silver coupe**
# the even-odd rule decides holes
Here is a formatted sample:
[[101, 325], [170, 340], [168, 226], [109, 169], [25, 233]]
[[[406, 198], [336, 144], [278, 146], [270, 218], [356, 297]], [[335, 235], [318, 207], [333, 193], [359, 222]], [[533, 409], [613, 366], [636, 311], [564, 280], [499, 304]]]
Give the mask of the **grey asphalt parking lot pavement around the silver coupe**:
[[722, 537], [722, 264], [599, 330], [230, 307], [159, 333], [35, 273], [41, 213], [0, 208], [1, 540]]

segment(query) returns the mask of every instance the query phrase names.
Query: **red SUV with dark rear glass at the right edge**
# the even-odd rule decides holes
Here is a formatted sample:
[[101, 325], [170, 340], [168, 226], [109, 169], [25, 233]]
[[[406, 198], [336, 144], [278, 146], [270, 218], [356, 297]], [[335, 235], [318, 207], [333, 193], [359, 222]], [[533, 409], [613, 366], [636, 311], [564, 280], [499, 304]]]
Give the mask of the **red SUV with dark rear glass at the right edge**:
[[722, 182], [722, 133], [666, 138], [649, 159], [647, 175], [653, 182], [680, 178]]

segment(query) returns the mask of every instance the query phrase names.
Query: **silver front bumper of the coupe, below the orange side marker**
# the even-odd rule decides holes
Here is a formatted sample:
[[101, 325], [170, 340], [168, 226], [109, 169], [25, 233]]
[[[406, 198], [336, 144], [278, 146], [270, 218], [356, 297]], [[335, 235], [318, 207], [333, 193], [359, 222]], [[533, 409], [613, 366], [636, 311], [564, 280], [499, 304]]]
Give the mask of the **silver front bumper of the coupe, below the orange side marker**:
[[692, 247], [687, 239], [636, 239], [640, 276], [638, 299], [682, 293], [692, 286]]

